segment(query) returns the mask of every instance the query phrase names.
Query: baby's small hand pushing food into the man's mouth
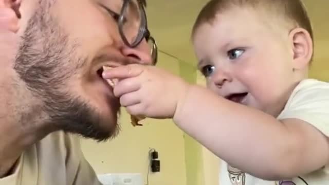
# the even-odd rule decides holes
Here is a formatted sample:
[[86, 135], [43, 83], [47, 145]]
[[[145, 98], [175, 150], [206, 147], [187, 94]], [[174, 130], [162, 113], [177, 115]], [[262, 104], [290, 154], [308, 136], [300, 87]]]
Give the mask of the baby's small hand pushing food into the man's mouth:
[[150, 118], [173, 118], [189, 84], [154, 66], [138, 64], [106, 70], [104, 79], [119, 79], [114, 94], [131, 115]]

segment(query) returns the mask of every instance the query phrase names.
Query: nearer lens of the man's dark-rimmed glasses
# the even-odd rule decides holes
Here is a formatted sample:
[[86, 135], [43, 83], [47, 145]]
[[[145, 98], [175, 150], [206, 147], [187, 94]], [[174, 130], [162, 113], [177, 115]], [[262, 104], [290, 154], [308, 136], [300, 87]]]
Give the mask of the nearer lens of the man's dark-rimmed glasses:
[[129, 43], [134, 46], [140, 39], [140, 29], [142, 26], [142, 13], [137, 1], [125, 1], [121, 12], [121, 31]]

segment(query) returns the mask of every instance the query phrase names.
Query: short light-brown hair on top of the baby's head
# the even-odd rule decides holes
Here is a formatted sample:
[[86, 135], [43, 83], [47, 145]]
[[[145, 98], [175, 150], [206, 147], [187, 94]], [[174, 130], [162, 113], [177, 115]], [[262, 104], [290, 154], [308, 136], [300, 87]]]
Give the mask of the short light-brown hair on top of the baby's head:
[[293, 25], [307, 30], [313, 40], [312, 25], [301, 0], [211, 0], [197, 16], [192, 35], [200, 25], [211, 23], [218, 13], [225, 12], [233, 7], [263, 9], [272, 17], [281, 15], [284, 22], [291, 22]]

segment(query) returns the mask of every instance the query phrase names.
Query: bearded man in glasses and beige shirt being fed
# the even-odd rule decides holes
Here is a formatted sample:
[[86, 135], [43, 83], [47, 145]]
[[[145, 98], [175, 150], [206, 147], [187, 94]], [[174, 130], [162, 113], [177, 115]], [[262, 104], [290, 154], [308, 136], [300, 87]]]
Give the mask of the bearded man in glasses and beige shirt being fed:
[[120, 104], [101, 73], [155, 61], [144, 6], [0, 0], [0, 184], [100, 184], [68, 133], [117, 134]]

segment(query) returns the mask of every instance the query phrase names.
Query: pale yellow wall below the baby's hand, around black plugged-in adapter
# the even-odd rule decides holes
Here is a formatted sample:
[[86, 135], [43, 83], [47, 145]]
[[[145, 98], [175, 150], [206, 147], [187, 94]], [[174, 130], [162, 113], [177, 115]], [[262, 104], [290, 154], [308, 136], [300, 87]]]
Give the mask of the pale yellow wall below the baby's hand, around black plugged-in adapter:
[[[178, 61], [162, 54], [159, 57], [160, 67], [179, 75]], [[184, 134], [171, 120], [147, 119], [144, 126], [133, 127], [123, 112], [120, 122], [121, 133], [114, 140], [100, 144], [82, 141], [84, 155], [98, 174], [142, 173], [146, 184], [151, 147], [159, 152], [161, 172], [151, 173], [149, 185], [187, 184]]]

